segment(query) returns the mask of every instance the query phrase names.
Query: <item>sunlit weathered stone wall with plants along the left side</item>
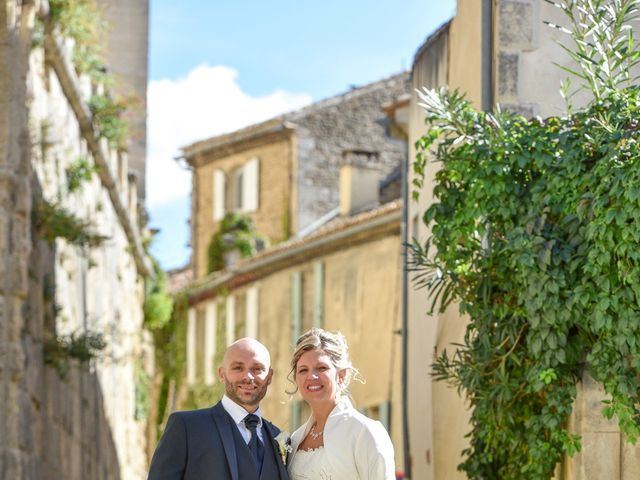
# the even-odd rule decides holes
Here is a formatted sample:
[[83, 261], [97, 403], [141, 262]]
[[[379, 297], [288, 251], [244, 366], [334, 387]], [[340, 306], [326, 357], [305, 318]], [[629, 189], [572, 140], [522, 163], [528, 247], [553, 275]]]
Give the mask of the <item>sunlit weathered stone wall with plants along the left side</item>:
[[[49, 12], [0, 8], [0, 477], [141, 479], [144, 169], [98, 135], [89, 99], [107, 92], [77, 74]], [[135, 56], [146, 76], [146, 47]]]

